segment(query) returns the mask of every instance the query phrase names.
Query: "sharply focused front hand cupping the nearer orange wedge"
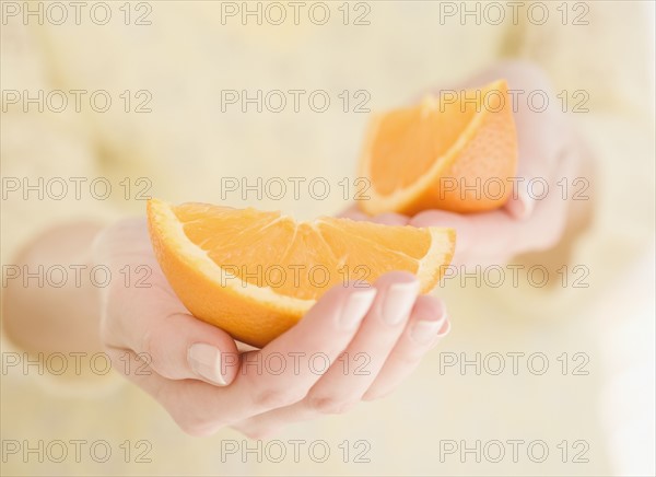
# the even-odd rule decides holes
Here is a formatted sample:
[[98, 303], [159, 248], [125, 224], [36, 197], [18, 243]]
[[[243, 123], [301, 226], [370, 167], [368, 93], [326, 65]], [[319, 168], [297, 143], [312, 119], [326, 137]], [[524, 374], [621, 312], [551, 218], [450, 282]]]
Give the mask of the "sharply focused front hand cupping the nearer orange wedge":
[[144, 220], [104, 231], [94, 256], [113, 274], [126, 265], [152, 270], [149, 288], [113, 280], [103, 289], [102, 338], [115, 368], [194, 435], [231, 426], [259, 438], [380, 397], [449, 329], [440, 300], [418, 296], [414, 276], [390, 272], [371, 287], [335, 287], [289, 331], [261, 350], [241, 352], [226, 333], [179, 302], [153, 256]]

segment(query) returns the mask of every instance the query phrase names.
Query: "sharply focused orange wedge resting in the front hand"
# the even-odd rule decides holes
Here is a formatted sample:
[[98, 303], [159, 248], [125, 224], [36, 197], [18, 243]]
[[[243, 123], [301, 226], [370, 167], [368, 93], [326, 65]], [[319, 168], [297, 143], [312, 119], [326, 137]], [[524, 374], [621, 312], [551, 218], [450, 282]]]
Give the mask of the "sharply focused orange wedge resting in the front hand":
[[365, 287], [391, 270], [432, 290], [454, 253], [452, 229], [349, 219], [295, 222], [280, 212], [207, 203], [148, 203], [153, 248], [187, 309], [234, 338], [263, 346], [330, 287]]

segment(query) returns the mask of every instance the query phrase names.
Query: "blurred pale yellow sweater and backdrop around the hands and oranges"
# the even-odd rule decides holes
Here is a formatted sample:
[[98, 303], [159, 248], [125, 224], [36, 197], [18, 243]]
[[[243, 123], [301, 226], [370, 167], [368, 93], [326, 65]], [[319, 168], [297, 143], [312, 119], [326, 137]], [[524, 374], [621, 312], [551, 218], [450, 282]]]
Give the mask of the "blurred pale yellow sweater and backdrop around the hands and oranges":
[[[54, 223], [142, 214], [145, 197], [338, 213], [373, 112], [517, 58], [594, 153], [595, 218], [561, 260], [588, 287], [438, 288], [452, 334], [401, 389], [273, 438], [288, 454], [325, 441], [325, 462], [187, 437], [113, 372], [9, 365], [22, 354], [3, 336], [2, 474], [654, 475], [654, 4], [301, 3], [2, 1], [2, 264]], [[243, 195], [276, 177], [282, 198]], [[291, 177], [330, 189], [295, 198]], [[73, 440], [113, 456], [78, 462]], [[39, 441], [68, 458], [24, 454]]]

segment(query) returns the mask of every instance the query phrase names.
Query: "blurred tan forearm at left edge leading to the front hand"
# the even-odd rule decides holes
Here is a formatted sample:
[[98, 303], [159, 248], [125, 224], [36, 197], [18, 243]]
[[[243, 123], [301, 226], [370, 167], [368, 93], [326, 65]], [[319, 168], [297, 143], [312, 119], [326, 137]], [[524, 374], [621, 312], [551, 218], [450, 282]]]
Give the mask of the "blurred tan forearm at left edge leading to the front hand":
[[[2, 333], [27, 351], [102, 349], [91, 246], [101, 226], [48, 230], [3, 267]], [[104, 280], [99, 277], [98, 280]]]

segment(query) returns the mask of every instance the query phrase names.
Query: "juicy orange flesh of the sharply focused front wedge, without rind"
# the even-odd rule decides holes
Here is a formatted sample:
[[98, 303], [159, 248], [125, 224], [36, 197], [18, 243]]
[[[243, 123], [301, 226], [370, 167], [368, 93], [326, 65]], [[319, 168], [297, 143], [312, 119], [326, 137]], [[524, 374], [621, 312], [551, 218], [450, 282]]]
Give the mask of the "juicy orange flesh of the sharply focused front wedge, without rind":
[[415, 272], [431, 245], [427, 233], [410, 226], [391, 235], [385, 225], [344, 219], [296, 223], [279, 212], [200, 203], [173, 210], [187, 237], [215, 264], [248, 283], [300, 299], [391, 270]]

